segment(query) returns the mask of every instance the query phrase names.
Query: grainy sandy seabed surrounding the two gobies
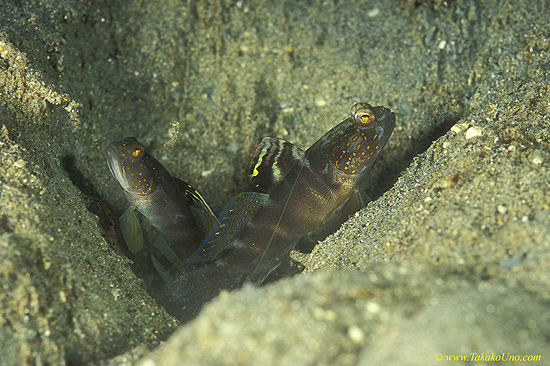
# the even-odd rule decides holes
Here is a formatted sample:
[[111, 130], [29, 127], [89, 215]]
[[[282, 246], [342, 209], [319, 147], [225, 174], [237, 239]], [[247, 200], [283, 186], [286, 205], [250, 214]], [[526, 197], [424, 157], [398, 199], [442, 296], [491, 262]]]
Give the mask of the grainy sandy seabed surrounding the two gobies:
[[[545, 1], [4, 1], [0, 363], [550, 364], [548, 24]], [[105, 146], [138, 137], [220, 210], [263, 136], [307, 147], [356, 101], [397, 115], [375, 201], [305, 273], [167, 314]]]

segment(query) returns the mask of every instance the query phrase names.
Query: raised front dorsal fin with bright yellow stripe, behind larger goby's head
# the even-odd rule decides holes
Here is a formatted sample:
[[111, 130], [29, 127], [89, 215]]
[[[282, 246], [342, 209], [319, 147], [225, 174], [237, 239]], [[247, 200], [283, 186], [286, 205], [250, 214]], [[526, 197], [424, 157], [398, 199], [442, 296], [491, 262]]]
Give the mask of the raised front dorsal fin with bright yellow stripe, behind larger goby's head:
[[304, 150], [292, 143], [264, 137], [252, 153], [248, 173], [258, 191], [269, 193], [303, 157]]

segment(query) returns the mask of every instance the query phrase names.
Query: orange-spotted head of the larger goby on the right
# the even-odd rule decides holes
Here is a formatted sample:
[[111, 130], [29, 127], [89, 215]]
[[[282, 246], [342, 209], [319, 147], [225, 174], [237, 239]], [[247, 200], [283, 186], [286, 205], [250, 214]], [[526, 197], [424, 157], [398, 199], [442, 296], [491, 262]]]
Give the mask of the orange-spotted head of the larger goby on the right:
[[388, 142], [395, 113], [368, 103], [355, 103], [350, 116], [332, 128], [306, 152], [310, 164], [322, 162], [331, 175], [361, 180]]

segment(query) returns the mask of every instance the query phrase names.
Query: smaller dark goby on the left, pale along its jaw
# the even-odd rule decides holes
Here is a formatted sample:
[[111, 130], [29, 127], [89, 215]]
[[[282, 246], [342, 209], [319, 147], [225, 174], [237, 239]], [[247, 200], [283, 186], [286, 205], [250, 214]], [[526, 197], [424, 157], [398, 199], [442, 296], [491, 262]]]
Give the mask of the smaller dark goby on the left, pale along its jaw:
[[[111, 143], [106, 157], [112, 175], [131, 205], [123, 217], [132, 218], [132, 211], [137, 210], [155, 227], [178, 258], [187, 259], [195, 253], [217, 221], [199, 192], [172, 177], [134, 137]], [[136, 229], [125, 230], [128, 225], [124, 223], [121, 227], [127, 242], [133, 241], [128, 238], [135, 235], [133, 231]], [[132, 244], [128, 243], [128, 246], [132, 250]], [[133, 251], [140, 249], [139, 244], [136, 246]]]

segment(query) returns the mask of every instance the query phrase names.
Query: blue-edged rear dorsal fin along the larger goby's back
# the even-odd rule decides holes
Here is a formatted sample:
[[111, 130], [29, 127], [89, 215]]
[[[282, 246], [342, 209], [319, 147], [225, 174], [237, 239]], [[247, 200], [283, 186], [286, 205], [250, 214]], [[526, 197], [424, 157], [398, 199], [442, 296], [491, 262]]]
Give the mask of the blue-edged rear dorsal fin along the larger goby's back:
[[190, 258], [190, 262], [212, 262], [233, 244], [236, 234], [246, 225], [256, 209], [267, 202], [267, 194], [243, 192], [229, 202], [216, 224], [199, 249]]

